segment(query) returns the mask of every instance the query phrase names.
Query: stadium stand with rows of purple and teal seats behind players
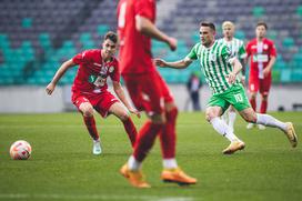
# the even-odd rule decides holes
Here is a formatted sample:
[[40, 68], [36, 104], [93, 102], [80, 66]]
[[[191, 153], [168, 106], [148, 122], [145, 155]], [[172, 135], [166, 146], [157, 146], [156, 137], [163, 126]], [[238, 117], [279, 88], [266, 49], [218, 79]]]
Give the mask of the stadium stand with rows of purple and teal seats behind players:
[[[160, 2], [167, 8], [172, 1]], [[254, 37], [255, 23], [264, 20], [268, 37], [275, 41], [279, 53], [274, 82], [302, 82], [301, 0], [173, 2], [170, 14], [159, 14], [159, 24], [179, 39], [179, 48], [170, 52], [165, 44], [154, 41], [154, 57], [183, 58], [199, 41], [201, 20], [215, 22], [218, 37], [224, 20], [234, 21], [236, 37], [245, 41]], [[115, 7], [112, 0], [1, 0], [0, 84], [47, 84], [62, 61], [83, 49], [97, 48], [108, 30], [115, 30]], [[198, 62], [192, 66], [160, 72], [169, 83], [184, 83], [192, 71], [199, 70]], [[69, 71], [60, 83], [71, 83], [76, 71]]]

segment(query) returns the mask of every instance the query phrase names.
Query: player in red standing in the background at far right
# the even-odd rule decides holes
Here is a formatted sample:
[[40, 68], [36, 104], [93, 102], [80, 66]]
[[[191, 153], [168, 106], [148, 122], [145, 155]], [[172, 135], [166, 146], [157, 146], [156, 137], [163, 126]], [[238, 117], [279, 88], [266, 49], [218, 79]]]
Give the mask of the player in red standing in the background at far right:
[[[248, 58], [251, 57], [249, 91], [250, 102], [254, 111], [256, 111], [256, 93], [261, 94], [260, 113], [266, 113], [268, 97], [272, 82], [272, 68], [275, 62], [276, 51], [274, 42], [266, 39], [268, 26], [265, 22], [259, 22], [255, 28], [255, 39], [252, 39], [246, 44]], [[248, 129], [253, 128], [254, 124], [249, 123]], [[259, 129], [265, 129], [264, 125], [259, 124]]]

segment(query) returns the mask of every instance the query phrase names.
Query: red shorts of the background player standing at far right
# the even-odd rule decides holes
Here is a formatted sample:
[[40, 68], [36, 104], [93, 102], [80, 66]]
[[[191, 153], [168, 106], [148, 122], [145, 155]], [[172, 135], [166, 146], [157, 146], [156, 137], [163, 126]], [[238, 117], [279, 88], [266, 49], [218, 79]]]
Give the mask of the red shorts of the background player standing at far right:
[[269, 76], [264, 79], [259, 79], [258, 77], [250, 77], [249, 79], [249, 91], [269, 93], [271, 89], [272, 77]]

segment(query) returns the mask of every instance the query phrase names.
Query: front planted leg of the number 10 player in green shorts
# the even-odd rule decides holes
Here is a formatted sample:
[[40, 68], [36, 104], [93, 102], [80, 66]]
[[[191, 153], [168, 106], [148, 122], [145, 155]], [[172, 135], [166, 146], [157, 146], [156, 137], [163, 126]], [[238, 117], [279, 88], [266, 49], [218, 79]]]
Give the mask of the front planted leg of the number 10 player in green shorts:
[[222, 114], [222, 108], [219, 104], [224, 104], [223, 108], [228, 108], [226, 103], [223, 103], [223, 101], [218, 102], [218, 100], [214, 100], [211, 98], [209, 107], [205, 110], [205, 119], [209, 121], [214, 130], [220, 133], [222, 137], [226, 138], [231, 143], [230, 145], [224, 149], [222, 152], [224, 154], [231, 154], [234, 153], [238, 150], [244, 149], [245, 144], [242, 142], [233, 132], [232, 129], [223, 121], [221, 120]]

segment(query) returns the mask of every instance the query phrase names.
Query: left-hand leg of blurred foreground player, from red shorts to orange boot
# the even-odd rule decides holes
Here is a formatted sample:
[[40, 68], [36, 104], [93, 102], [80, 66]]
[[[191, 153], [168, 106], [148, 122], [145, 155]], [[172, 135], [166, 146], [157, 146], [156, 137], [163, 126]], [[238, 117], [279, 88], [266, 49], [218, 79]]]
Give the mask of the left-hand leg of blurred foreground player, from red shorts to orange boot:
[[139, 110], [145, 110], [149, 120], [140, 129], [132, 155], [120, 172], [137, 188], [149, 188], [141, 172], [141, 164], [165, 122], [163, 98], [153, 74], [124, 77], [129, 94]]

